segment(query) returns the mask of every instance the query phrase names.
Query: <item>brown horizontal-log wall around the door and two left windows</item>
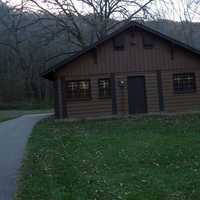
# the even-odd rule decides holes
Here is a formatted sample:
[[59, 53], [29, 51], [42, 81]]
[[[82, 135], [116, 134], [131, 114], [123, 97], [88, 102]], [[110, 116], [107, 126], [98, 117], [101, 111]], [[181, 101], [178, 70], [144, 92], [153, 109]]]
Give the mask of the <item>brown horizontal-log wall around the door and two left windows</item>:
[[[158, 86], [156, 73], [130, 73], [129, 76], [145, 76], [146, 81], [146, 96], [148, 112], [159, 112]], [[112, 115], [112, 98], [99, 98], [98, 94], [98, 79], [109, 78], [111, 74], [100, 76], [81, 76], [77, 80], [90, 79], [91, 83], [91, 99], [70, 101], [65, 99], [67, 106], [68, 117], [84, 118]], [[116, 96], [117, 96], [117, 111], [120, 115], [128, 114], [128, 87], [127, 74], [116, 74]], [[74, 80], [74, 77], [67, 80]], [[119, 86], [119, 81], [125, 81], [124, 88]]]

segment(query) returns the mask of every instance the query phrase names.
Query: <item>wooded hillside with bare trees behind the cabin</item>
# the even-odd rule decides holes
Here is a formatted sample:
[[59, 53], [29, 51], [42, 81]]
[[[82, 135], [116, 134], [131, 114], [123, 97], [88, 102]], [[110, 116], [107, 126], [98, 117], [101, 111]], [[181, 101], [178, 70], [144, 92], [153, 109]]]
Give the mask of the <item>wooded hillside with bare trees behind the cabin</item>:
[[[153, 0], [80, 1], [88, 12], [72, 0], [0, 1], [0, 109], [50, 107], [53, 86], [41, 72], [131, 20], [200, 49], [198, 1], [183, 1], [179, 20], [169, 19]], [[163, 0], [163, 7], [169, 5]]]

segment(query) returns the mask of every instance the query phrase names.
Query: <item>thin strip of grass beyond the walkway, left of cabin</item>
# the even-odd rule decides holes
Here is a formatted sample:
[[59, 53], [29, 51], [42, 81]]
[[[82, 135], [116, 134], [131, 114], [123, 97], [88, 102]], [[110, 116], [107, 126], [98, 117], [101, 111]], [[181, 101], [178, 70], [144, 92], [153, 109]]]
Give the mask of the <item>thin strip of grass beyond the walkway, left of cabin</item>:
[[50, 112], [50, 110], [0, 110], [0, 122], [14, 119], [25, 114]]

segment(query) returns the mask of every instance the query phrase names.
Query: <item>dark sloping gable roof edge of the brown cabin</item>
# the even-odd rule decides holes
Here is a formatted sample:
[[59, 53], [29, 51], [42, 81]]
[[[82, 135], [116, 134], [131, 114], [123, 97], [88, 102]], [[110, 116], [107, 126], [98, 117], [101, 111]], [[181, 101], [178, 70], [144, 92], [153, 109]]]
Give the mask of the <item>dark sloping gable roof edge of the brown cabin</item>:
[[152, 29], [148, 26], [145, 26], [141, 23], [138, 23], [138, 22], [130, 22], [124, 26], [122, 26], [121, 28], [119, 28], [118, 30], [114, 31], [113, 33], [105, 36], [103, 39], [95, 42], [94, 44], [86, 47], [85, 49], [83, 49], [82, 51], [79, 51], [77, 54], [75, 55], [72, 55], [70, 56], [69, 58], [63, 60], [62, 62], [59, 62], [58, 64], [50, 67], [49, 69], [47, 69], [46, 71], [44, 71], [41, 76], [46, 78], [46, 79], [49, 79], [49, 80], [53, 80], [53, 74], [55, 72], [57, 72], [58, 70], [60, 70], [61, 68], [63, 68], [66, 64], [69, 64], [71, 62], [73, 62], [74, 60], [76, 60], [77, 58], [79, 58], [80, 56], [96, 49], [99, 45], [103, 44], [104, 42], [112, 39], [113, 37], [116, 37], [117, 35], [123, 33], [124, 31], [130, 29], [130, 28], [139, 28], [141, 30], [144, 30], [146, 32], [149, 32], [155, 36], [158, 36], [162, 39], [164, 39], [165, 41], [168, 41], [170, 42], [171, 44], [175, 45], [175, 46], [178, 46], [178, 47], [181, 47], [181, 48], [184, 48], [185, 50], [188, 50], [196, 55], [200, 55], [200, 50], [197, 50], [195, 48], [193, 48], [192, 46], [186, 44], [186, 43], [183, 43], [181, 41], [178, 41], [172, 37], [169, 37], [167, 36], [166, 34], [163, 34], [155, 29]]

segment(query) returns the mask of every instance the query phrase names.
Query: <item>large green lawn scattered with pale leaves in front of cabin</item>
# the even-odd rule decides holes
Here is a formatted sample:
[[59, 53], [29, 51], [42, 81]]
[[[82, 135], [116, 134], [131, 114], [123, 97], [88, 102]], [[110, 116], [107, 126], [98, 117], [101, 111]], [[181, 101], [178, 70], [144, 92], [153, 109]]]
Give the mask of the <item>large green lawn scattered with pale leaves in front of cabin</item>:
[[38, 124], [18, 200], [197, 200], [200, 115]]

